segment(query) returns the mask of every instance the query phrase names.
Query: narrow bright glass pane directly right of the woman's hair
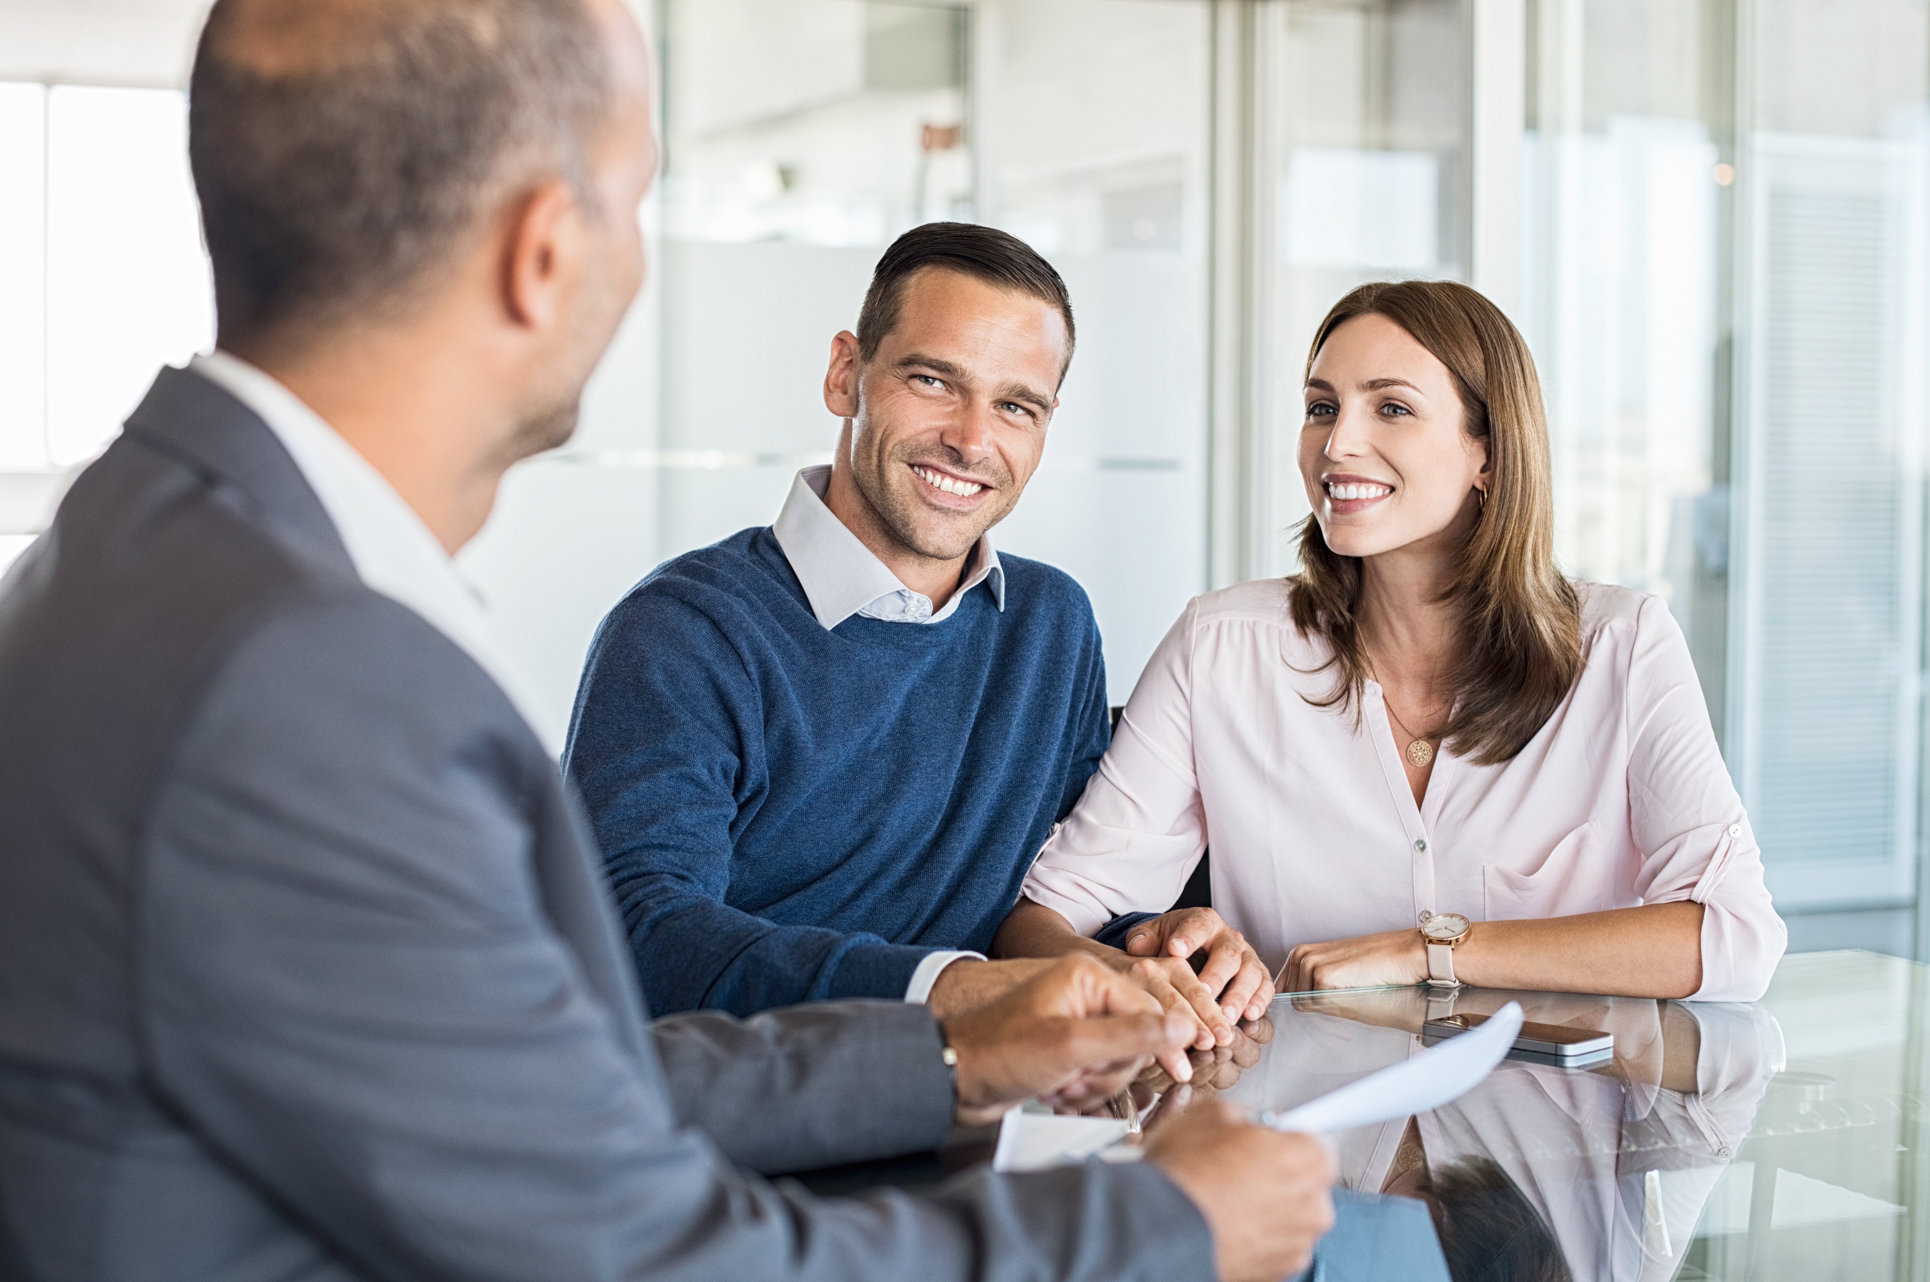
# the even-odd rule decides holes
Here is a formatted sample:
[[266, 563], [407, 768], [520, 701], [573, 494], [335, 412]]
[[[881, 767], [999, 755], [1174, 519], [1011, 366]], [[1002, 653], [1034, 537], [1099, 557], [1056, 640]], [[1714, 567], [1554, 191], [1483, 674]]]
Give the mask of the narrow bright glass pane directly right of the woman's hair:
[[1561, 566], [1669, 602], [1723, 722], [1733, 39], [1712, 6], [1529, 6], [1517, 317]]

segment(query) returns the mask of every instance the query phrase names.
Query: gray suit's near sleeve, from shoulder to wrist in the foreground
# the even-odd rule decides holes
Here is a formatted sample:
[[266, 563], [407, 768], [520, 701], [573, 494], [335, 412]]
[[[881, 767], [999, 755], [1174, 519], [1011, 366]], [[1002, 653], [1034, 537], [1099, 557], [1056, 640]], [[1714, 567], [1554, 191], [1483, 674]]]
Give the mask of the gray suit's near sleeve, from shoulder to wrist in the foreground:
[[147, 822], [145, 1068], [353, 1270], [1210, 1276], [1204, 1220], [1148, 1166], [816, 1199], [679, 1126], [544, 911], [537, 811], [562, 794], [500, 707], [401, 606], [280, 610], [197, 701]]

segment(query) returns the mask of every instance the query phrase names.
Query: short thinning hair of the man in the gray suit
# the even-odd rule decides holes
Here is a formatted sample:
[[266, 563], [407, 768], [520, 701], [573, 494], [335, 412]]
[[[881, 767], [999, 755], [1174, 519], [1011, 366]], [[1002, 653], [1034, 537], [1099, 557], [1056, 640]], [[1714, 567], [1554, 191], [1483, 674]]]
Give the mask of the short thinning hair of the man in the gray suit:
[[218, 0], [187, 154], [222, 334], [394, 305], [521, 183], [591, 203], [583, 0]]

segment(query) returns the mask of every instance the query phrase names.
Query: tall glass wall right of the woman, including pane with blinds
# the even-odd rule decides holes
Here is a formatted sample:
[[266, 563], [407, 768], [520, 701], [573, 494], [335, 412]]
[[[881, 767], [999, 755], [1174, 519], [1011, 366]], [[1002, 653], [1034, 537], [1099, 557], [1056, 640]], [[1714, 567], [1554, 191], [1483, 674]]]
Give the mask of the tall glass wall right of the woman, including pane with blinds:
[[1785, 911], [1922, 822], [1930, 29], [1913, 0], [1536, 0], [1521, 320], [1561, 564], [1662, 595]]

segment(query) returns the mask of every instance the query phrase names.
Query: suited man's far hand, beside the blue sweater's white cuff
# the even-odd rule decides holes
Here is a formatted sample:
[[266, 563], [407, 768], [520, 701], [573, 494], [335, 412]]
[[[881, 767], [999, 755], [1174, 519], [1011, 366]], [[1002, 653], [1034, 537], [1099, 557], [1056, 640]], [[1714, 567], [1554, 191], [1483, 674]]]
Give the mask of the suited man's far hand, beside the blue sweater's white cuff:
[[[946, 967], [951, 969], [951, 967]], [[959, 1122], [992, 1122], [1019, 1101], [1079, 1102], [1116, 1095], [1158, 1056], [1193, 1075], [1185, 1043], [1191, 1016], [1160, 1004], [1085, 954], [1044, 969], [990, 1006], [944, 1021], [959, 1056]]]

